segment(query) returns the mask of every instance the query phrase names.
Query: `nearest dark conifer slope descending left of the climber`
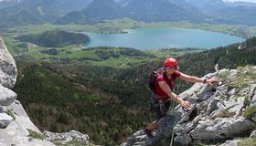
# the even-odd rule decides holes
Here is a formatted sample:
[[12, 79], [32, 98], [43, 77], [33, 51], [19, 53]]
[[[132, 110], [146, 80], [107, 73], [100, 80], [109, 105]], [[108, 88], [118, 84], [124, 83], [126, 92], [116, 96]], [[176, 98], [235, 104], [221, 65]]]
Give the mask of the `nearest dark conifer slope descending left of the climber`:
[[[62, 76], [59, 76], [55, 71], [71, 66], [21, 63], [18, 64], [20, 78], [14, 90], [40, 130], [80, 130], [90, 133], [95, 143], [115, 145], [141, 127], [144, 120], [149, 120], [144, 107], [133, 109], [123, 105], [126, 96], [122, 98], [122, 95], [114, 95], [90, 84], [93, 81], [105, 85], [107, 80], [103, 78], [87, 76], [70, 80], [69, 76], [72, 75], [69, 73], [62, 72]], [[102, 69], [98, 68], [98, 71], [104, 71]], [[112, 83], [108, 86], [119, 85]]]

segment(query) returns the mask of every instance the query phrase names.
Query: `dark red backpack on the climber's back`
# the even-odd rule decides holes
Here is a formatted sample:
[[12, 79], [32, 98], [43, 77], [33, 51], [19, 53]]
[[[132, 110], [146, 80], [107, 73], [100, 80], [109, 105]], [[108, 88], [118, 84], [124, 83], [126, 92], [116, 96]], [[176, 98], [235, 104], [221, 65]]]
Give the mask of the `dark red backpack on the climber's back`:
[[[156, 84], [155, 84], [155, 81], [156, 81], [156, 78], [159, 76], [159, 75], [164, 75], [163, 71], [164, 71], [164, 67], [162, 68], [158, 68], [156, 70], [154, 70], [150, 75], [149, 75], [149, 80], [148, 80], [148, 87], [149, 89], [151, 89], [153, 92], [155, 92], [155, 87], [156, 87]], [[165, 76], [165, 75], [164, 75]], [[165, 78], [165, 77], [164, 77]], [[176, 78], [176, 76], [174, 75], [174, 78]], [[171, 84], [170, 84], [171, 85]], [[170, 89], [172, 91], [174, 91], [172, 89], [172, 86], [170, 86]]]

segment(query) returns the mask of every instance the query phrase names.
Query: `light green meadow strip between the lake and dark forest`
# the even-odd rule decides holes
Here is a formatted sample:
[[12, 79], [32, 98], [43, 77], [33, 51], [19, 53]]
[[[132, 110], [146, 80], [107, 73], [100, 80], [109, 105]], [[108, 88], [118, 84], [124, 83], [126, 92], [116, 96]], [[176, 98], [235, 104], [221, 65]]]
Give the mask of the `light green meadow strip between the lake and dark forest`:
[[[148, 56], [126, 56], [117, 53], [118, 57], [108, 57], [101, 58], [99, 51], [101, 53], [114, 52], [119, 47], [103, 47], [99, 49], [98, 47], [90, 49], [77, 50], [76, 46], [68, 46], [61, 48], [54, 48], [58, 51], [58, 55], [49, 55], [43, 53], [42, 50], [48, 49], [45, 47], [29, 47], [27, 55], [36, 58], [37, 60], [44, 61], [58, 61], [67, 62], [68, 61], [84, 61], [91, 66], [111, 66], [114, 68], [130, 68], [137, 63], [152, 61], [154, 59], [165, 58], [165, 57], [177, 57], [187, 53], [201, 52], [204, 49], [188, 49], [188, 48], [172, 48], [172, 49], [158, 49], [158, 50], [144, 50], [145, 54]], [[125, 48], [122, 48], [125, 49]], [[131, 50], [133, 51], [133, 50]]]

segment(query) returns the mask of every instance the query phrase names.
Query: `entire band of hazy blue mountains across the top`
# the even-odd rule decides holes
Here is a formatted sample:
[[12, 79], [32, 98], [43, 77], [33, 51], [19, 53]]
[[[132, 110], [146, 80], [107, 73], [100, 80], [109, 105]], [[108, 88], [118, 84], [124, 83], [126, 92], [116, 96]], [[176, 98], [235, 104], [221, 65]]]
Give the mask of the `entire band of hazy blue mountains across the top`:
[[256, 25], [256, 5], [222, 0], [10, 0], [0, 1], [0, 26], [56, 22], [96, 23], [129, 17], [144, 22], [190, 21]]

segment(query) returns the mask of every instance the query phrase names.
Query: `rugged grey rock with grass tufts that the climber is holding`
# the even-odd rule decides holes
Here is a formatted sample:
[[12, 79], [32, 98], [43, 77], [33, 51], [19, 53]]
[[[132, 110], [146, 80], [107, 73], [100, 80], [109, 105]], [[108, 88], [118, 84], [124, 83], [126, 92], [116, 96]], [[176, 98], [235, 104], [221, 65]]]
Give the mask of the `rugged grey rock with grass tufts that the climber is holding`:
[[[237, 138], [256, 138], [256, 67], [221, 69], [205, 78], [219, 77], [213, 86], [196, 83], [180, 94], [190, 101], [190, 109], [177, 106], [158, 121], [155, 137], [147, 138], [143, 130], [136, 131], [123, 146], [196, 145], [199, 142], [238, 145]], [[236, 139], [236, 140], [234, 140]], [[248, 140], [250, 140], [248, 139]], [[249, 145], [255, 141], [249, 142]], [[247, 144], [248, 145], [248, 144]]]

